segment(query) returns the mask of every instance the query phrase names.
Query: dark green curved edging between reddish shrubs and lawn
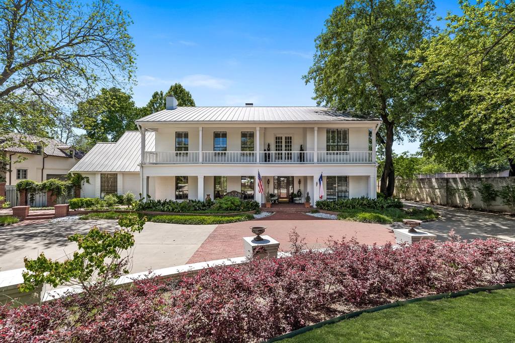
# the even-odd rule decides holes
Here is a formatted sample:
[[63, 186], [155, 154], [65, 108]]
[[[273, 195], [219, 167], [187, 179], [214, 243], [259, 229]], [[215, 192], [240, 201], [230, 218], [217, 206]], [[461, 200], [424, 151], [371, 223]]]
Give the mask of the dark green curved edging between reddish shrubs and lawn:
[[270, 338], [266, 342], [267, 343], [268, 342], [276, 342], [276, 341], [283, 340], [283, 339], [286, 339], [286, 338], [292, 338], [292, 337], [298, 336], [300, 334], [306, 333], [308, 331], [324, 327], [325, 325], [328, 325], [328, 324], [334, 324], [334, 323], [340, 322], [342, 320], [358, 317], [358, 316], [360, 316], [360, 315], [362, 315], [364, 313], [373, 313], [373, 312], [377, 312], [377, 311], [386, 310], [387, 308], [403, 306], [403, 305], [406, 305], [406, 304], [410, 304], [410, 303], [414, 303], [414, 302], [419, 302], [419, 301], [431, 301], [431, 300], [440, 300], [440, 299], [444, 299], [444, 298], [456, 298], [456, 297], [461, 297], [461, 296], [465, 296], [465, 295], [468, 295], [468, 294], [479, 293], [479, 292], [487, 291], [487, 290], [509, 289], [509, 288], [515, 288], [515, 283], [483, 286], [483, 287], [459, 290], [459, 291], [450, 292], [450, 293], [440, 293], [440, 294], [433, 294], [433, 295], [430, 295], [430, 296], [425, 296], [425, 297], [420, 297], [420, 298], [413, 298], [413, 299], [407, 299], [407, 300], [399, 300], [399, 301], [396, 301], [396, 302], [391, 302], [389, 304], [379, 305], [379, 306], [375, 306], [375, 307], [371, 307], [371, 308], [365, 308], [365, 310], [359, 310], [359, 311], [347, 313], [347, 314], [344, 314], [344, 315], [341, 315], [341, 316], [338, 316], [338, 317], [334, 317], [334, 318], [331, 318], [331, 319], [327, 319], [327, 320], [324, 320], [324, 321], [320, 321], [318, 323], [315, 323], [315, 324], [312, 324], [312, 325], [308, 325], [307, 327], [300, 328], [298, 330], [288, 332], [288, 333], [286, 333], [284, 335], [280, 335], [280, 336], [276, 336], [276, 337]]

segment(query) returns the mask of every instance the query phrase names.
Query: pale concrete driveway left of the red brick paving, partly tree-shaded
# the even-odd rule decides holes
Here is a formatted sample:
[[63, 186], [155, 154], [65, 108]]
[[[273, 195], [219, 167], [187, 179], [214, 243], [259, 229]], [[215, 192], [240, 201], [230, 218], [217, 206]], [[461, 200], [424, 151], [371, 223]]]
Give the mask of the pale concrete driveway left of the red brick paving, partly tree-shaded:
[[[87, 233], [93, 226], [118, 228], [116, 220], [72, 220], [39, 222], [0, 228], [0, 270], [23, 268], [23, 258], [35, 259], [44, 252], [47, 258], [64, 259], [77, 250], [66, 237]], [[186, 264], [216, 225], [178, 225], [147, 222], [135, 233], [132, 272]]]

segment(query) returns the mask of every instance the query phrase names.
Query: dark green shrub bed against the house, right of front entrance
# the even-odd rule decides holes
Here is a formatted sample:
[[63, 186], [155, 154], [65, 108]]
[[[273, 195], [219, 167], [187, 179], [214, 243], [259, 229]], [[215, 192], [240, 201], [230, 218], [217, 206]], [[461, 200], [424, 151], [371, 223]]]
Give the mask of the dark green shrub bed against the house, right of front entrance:
[[317, 208], [325, 211], [342, 211], [345, 209], [374, 209], [384, 210], [390, 208], [402, 209], [403, 203], [399, 199], [377, 198], [370, 199], [367, 197], [332, 200], [318, 200]]

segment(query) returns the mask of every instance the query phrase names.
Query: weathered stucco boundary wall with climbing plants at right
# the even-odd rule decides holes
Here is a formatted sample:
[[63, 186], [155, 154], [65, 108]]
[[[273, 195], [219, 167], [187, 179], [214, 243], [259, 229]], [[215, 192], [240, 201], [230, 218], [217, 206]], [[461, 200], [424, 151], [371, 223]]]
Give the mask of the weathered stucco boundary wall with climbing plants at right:
[[[491, 183], [497, 191], [500, 191], [503, 186], [515, 185], [515, 178], [424, 178], [409, 181], [397, 180], [396, 194], [407, 200], [486, 209], [486, 205], [477, 191], [482, 182]], [[469, 198], [467, 193], [472, 194], [472, 196]], [[500, 197], [497, 197], [490, 209], [503, 212], [509, 211], [509, 208], [502, 204]]]

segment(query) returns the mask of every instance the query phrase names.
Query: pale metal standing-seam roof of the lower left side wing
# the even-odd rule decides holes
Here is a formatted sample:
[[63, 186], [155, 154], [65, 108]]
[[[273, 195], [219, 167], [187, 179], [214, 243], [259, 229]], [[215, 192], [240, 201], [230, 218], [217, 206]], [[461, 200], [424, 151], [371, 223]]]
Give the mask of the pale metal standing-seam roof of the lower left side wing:
[[[156, 135], [146, 133], [145, 150], [155, 150]], [[141, 134], [126, 131], [116, 143], [97, 143], [70, 171], [130, 172], [140, 171]]]

